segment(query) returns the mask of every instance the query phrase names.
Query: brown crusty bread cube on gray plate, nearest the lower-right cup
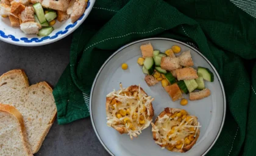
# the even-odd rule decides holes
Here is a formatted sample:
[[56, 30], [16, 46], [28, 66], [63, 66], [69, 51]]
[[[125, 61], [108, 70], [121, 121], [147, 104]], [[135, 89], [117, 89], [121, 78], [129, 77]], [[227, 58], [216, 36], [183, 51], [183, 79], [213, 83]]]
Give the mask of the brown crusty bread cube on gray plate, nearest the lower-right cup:
[[177, 100], [183, 98], [182, 92], [177, 83], [174, 83], [171, 86], [166, 86], [165, 90], [166, 90], [166, 92], [168, 92], [172, 101], [177, 101]]

